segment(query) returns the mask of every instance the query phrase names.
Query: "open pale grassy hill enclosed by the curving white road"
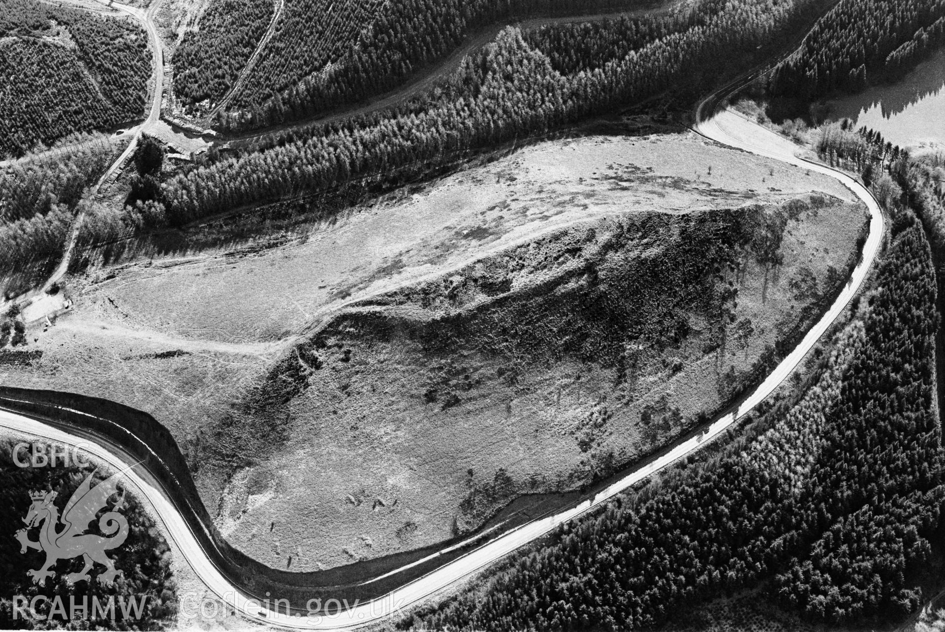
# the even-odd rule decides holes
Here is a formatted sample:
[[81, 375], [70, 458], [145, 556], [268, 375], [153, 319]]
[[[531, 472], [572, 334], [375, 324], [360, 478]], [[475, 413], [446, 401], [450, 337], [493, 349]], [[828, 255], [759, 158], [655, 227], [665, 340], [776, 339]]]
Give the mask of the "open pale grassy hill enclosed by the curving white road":
[[[71, 278], [74, 313], [32, 327], [26, 350], [34, 355], [5, 358], [0, 379], [146, 410], [188, 453], [204, 502], [236, 546], [276, 568], [334, 567], [449, 538], [522, 492], [579, 487], [718, 407], [729, 367], [737, 376], [801, 322], [828, 291], [831, 267], [845, 274], [863, 224], [851, 199], [833, 179], [695, 135], [534, 145], [352, 209], [301, 237], [268, 235], [229, 251], [163, 258], [145, 252]], [[527, 306], [530, 283], [550, 283], [562, 297], [586, 295], [582, 258], [610, 284], [605, 295], [623, 292], [623, 268], [605, 265], [610, 255], [600, 251], [618, 226], [649, 226], [637, 236], [650, 241], [614, 250], [632, 268], [681, 256], [680, 227], [746, 205], [754, 210], [727, 212], [729, 221], [787, 219], [772, 224], [783, 223], [780, 263], [766, 275], [752, 263], [758, 245], [733, 245], [724, 256], [744, 255], [742, 271], [720, 266], [722, 279], [706, 281], [713, 292], [739, 288], [737, 307], [720, 303], [736, 316], [724, 348], [705, 346], [720, 330], [705, 324], [712, 305], [696, 305], [697, 279], [674, 303], [690, 323], [685, 340], [640, 350], [632, 387], [618, 380], [614, 360], [637, 352], [632, 347], [584, 357], [548, 336], [509, 372], [500, 371], [509, 357], [484, 346], [483, 315], [503, 300], [507, 309]], [[592, 229], [596, 237], [587, 240]], [[587, 248], [561, 265], [551, 265], [554, 257], [513, 265], [521, 253], [566, 252], [575, 240]], [[471, 278], [483, 258], [508, 278], [477, 282], [486, 298], [451, 304], [444, 282]], [[423, 304], [424, 293], [441, 302]], [[375, 311], [396, 312], [403, 329], [385, 339], [367, 303], [352, 313], [357, 318], [337, 316], [366, 299]], [[442, 349], [409, 338], [442, 321], [444, 310], [478, 333], [455, 332], [458, 347]], [[746, 319], [751, 326], [736, 335]], [[603, 340], [607, 328], [594, 330], [593, 322], [588, 316], [576, 327], [586, 340]], [[325, 350], [317, 349], [319, 327]], [[313, 366], [310, 351], [324, 367], [304, 392], [271, 408], [283, 417], [247, 417], [260, 386], [286, 362]], [[272, 449], [261, 432], [279, 434]], [[215, 458], [235, 451], [246, 457]], [[290, 506], [292, 521], [283, 518]]]

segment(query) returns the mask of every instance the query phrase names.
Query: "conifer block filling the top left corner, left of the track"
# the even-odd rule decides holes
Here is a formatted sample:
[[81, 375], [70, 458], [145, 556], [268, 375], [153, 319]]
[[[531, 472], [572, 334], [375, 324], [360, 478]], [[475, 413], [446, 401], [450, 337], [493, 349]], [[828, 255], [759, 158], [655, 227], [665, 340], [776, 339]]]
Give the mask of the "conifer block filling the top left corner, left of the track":
[[36, 0], [4, 14], [0, 156], [142, 117], [151, 58], [140, 26]]

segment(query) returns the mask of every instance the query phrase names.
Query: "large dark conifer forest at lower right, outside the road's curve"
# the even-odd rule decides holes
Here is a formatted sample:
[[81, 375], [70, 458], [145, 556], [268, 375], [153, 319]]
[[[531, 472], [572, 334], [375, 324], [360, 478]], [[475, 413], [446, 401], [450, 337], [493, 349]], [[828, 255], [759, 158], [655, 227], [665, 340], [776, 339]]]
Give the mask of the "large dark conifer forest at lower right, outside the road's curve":
[[943, 498], [936, 279], [914, 215], [893, 231], [826, 370], [766, 432], [562, 527], [427, 626], [639, 629], [759, 585], [816, 622], [915, 612]]

